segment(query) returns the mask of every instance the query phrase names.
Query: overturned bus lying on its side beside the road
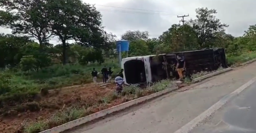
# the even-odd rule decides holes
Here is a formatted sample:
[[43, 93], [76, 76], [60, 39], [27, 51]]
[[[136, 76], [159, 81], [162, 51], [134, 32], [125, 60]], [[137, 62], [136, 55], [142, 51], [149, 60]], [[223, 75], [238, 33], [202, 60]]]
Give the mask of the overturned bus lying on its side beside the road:
[[178, 53], [146, 55], [122, 59], [125, 84], [150, 84], [152, 82], [178, 78], [175, 71], [177, 55], [186, 61], [185, 75], [200, 71], [213, 71], [227, 67], [223, 48], [205, 48]]

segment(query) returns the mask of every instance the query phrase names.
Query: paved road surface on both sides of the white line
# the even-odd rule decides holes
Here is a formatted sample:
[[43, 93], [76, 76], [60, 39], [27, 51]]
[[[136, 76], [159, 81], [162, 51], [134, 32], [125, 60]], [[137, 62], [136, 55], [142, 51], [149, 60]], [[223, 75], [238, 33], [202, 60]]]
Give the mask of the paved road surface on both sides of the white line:
[[[64, 133], [174, 133], [223, 97], [256, 77], [254, 70], [256, 70], [256, 63], [236, 68], [233, 71], [212, 77], [209, 81], [184, 92], [167, 94], [147, 104], [126, 110], [122, 114], [107, 117], [99, 122], [80, 126]], [[256, 127], [256, 119], [253, 122], [253, 118], [256, 118], [256, 115], [253, 115], [253, 108], [256, 108], [256, 102], [253, 104], [256, 97], [253, 98], [253, 94], [256, 94], [256, 90], [250, 87], [242, 93], [246, 92], [248, 96], [244, 94], [237, 98], [242, 100], [234, 100], [236, 104], [232, 102], [233, 104], [225, 105], [227, 107], [223, 107], [222, 111], [218, 110], [215, 113], [218, 114], [216, 117], [213, 119], [209, 117], [209, 121], [207, 119], [206, 123], [201, 122], [191, 130], [191, 133], [220, 133], [221, 130], [213, 129], [216, 128], [215, 126], [218, 126], [218, 129], [223, 129], [224, 123], [231, 125], [229, 126], [231, 129], [236, 129], [236, 132], [233, 132], [226, 128], [225, 133], [243, 133], [237, 132], [237, 130], [244, 128], [253, 130], [253, 125]], [[245, 99], [245, 97], [248, 98]], [[247, 108], [249, 106], [250, 108]], [[225, 113], [227, 110], [229, 112]], [[241, 125], [241, 123], [243, 124]]]

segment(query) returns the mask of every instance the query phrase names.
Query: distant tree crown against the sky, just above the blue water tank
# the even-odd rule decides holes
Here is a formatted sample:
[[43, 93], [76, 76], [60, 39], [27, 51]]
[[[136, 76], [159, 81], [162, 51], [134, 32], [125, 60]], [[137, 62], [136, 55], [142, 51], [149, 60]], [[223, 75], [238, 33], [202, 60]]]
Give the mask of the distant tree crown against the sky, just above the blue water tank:
[[149, 37], [149, 34], [147, 31], [126, 31], [122, 36], [121, 39], [127, 40], [127, 41], [135, 41], [138, 39], [147, 40]]

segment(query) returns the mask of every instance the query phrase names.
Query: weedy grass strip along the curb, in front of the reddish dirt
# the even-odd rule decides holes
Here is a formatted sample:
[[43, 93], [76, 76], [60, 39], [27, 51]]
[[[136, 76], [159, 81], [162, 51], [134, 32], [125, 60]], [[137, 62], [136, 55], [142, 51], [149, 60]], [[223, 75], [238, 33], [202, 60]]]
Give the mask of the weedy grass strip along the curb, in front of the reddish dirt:
[[170, 80], [162, 80], [160, 82], [154, 83], [151, 86], [147, 86], [144, 89], [141, 89], [134, 85], [125, 86], [120, 94], [114, 91], [105, 97], [101, 97], [97, 102], [94, 102], [93, 104], [86, 105], [86, 103], [84, 103], [84, 106], [71, 106], [65, 109], [58, 110], [52, 116], [50, 116], [49, 119], [37, 120], [30, 123], [22, 123], [19, 130], [23, 133], [41, 132], [46, 129], [51, 129], [61, 124], [109, 108], [113, 106], [113, 103], [116, 104], [116, 101], [118, 101], [118, 104], [121, 104], [127, 101], [131, 101], [133, 99], [160, 92], [171, 87], [173, 87], [173, 82]]

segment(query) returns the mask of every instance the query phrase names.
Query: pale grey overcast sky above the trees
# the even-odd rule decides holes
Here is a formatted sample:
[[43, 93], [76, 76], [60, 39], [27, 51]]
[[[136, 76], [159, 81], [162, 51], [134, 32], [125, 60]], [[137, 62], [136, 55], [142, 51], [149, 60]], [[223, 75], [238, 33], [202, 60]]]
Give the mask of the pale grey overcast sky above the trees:
[[[195, 9], [201, 7], [217, 10], [217, 18], [229, 24], [226, 32], [233, 36], [241, 36], [249, 25], [256, 24], [256, 0], [83, 0], [96, 4], [102, 14], [103, 26], [107, 32], [120, 36], [128, 30], [148, 31], [151, 37], [158, 37], [172, 24], [178, 24], [181, 18], [195, 18]], [[102, 6], [105, 5], [105, 6]], [[112, 6], [112, 7], [109, 7]], [[115, 8], [122, 7], [122, 8]], [[132, 9], [141, 10], [132, 10]], [[149, 11], [153, 10], [153, 11]], [[129, 13], [124, 13], [129, 12]], [[146, 12], [143, 13], [143, 12]], [[0, 28], [0, 32], [11, 30]], [[51, 43], [58, 43], [52, 40]]]

